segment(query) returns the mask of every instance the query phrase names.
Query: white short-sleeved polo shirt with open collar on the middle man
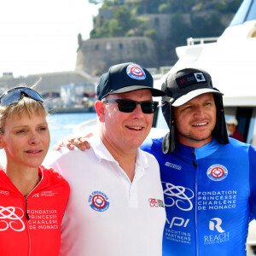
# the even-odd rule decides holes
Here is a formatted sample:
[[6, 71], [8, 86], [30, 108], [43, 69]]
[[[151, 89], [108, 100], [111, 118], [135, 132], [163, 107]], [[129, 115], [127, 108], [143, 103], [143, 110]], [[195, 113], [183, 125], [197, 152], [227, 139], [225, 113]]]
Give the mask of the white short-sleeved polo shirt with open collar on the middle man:
[[90, 146], [84, 152], [64, 148], [49, 158], [71, 188], [60, 255], [162, 255], [166, 211], [157, 160], [138, 149], [131, 183], [99, 137]]

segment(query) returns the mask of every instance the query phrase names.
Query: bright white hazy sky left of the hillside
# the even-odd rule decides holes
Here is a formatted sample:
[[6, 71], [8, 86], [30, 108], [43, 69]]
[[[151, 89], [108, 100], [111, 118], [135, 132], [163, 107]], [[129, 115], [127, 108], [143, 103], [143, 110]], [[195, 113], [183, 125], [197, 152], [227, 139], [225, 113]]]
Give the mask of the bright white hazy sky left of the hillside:
[[2, 0], [0, 77], [74, 70], [78, 34], [89, 38], [97, 9], [87, 0]]

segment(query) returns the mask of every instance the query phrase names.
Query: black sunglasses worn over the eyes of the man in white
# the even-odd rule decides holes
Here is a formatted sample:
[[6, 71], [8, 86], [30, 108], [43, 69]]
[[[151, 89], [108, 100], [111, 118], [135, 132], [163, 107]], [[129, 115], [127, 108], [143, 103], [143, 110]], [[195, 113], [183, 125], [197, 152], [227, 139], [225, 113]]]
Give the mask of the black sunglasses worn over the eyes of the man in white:
[[143, 113], [154, 113], [158, 102], [136, 102], [132, 100], [123, 100], [123, 99], [117, 99], [117, 100], [103, 100], [102, 102], [116, 102], [118, 103], [118, 108], [120, 112], [125, 113], [131, 113], [134, 111], [134, 109], [137, 107], [137, 105], [141, 105]]

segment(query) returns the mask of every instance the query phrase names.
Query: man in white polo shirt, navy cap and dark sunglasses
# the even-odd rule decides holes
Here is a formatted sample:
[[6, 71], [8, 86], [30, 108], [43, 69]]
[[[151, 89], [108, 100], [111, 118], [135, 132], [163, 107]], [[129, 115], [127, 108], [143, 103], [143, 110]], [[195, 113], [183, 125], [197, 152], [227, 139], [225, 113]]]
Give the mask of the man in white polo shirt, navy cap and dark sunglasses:
[[[62, 222], [61, 255], [160, 256], [166, 221], [160, 171], [139, 146], [158, 102], [148, 70], [110, 67], [97, 86], [98, 135], [86, 152], [61, 148], [50, 166], [71, 187]], [[92, 172], [93, 171], [93, 172]]]

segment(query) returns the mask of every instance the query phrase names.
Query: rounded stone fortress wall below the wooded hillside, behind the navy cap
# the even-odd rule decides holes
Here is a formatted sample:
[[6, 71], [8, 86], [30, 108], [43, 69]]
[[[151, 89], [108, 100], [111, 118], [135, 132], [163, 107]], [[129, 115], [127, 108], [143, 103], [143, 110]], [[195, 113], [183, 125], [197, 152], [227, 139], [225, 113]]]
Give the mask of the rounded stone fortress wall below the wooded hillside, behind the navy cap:
[[106, 72], [114, 64], [128, 61], [154, 67], [157, 59], [154, 44], [149, 38], [80, 39], [79, 42], [76, 70], [94, 75]]

